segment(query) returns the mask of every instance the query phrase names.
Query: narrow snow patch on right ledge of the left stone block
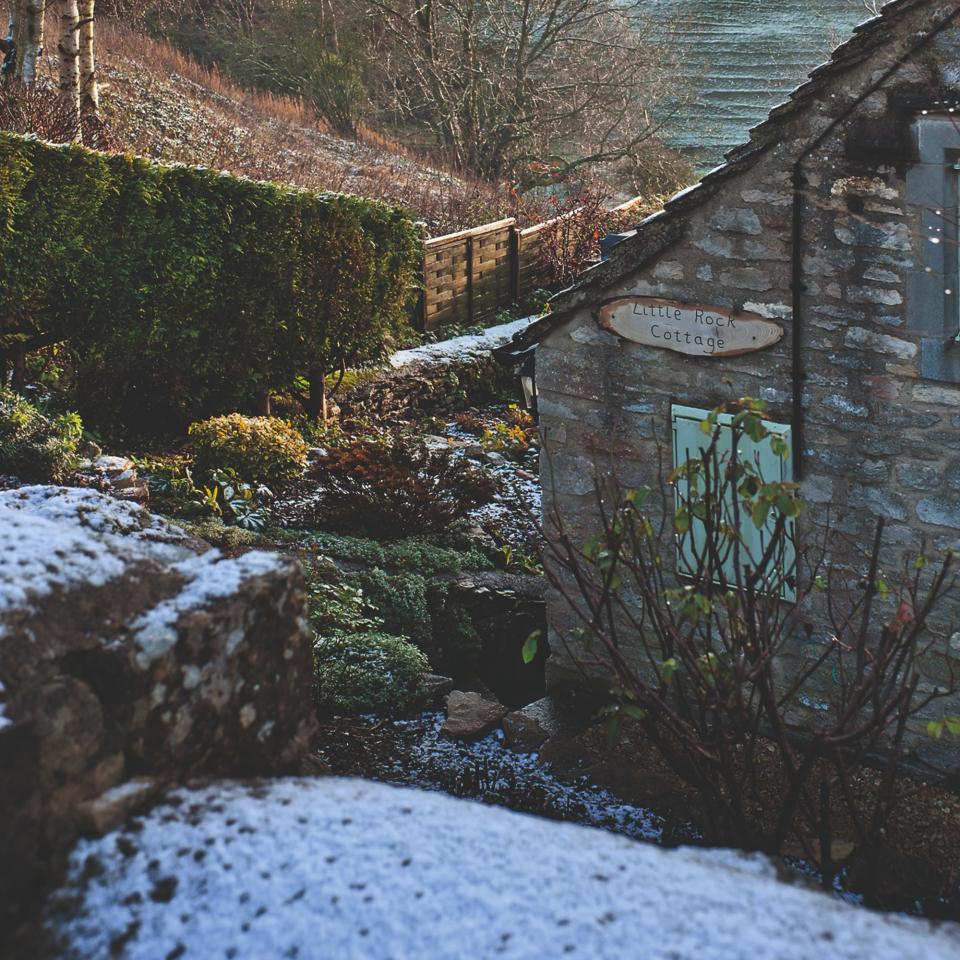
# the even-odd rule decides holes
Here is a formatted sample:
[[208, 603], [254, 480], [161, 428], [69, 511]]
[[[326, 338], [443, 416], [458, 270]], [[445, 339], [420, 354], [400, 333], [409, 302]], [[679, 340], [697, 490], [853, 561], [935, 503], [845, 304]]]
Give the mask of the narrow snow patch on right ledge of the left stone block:
[[186, 611], [238, 594], [245, 580], [276, 568], [276, 555], [263, 550], [235, 558], [221, 558], [218, 552], [208, 551], [173, 564], [171, 570], [186, 581], [183, 587], [130, 625], [137, 645], [137, 665], [145, 669], [173, 647], [177, 642], [177, 622]]

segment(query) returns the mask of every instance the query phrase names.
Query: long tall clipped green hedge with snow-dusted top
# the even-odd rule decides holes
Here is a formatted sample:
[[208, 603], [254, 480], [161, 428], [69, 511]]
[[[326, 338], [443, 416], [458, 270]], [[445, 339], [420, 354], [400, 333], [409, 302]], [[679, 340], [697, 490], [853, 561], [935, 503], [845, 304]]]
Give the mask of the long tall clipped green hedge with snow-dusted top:
[[0, 360], [66, 342], [101, 427], [309, 403], [390, 347], [420, 255], [379, 201], [0, 133]]

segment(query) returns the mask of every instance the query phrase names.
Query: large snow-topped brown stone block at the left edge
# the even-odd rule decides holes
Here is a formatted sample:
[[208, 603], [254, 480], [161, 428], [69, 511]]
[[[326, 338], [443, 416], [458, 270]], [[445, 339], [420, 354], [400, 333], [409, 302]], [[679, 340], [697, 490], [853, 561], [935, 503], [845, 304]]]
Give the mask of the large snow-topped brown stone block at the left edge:
[[295, 770], [312, 729], [296, 564], [226, 558], [92, 490], [0, 493], [0, 904], [11, 921], [134, 776]]

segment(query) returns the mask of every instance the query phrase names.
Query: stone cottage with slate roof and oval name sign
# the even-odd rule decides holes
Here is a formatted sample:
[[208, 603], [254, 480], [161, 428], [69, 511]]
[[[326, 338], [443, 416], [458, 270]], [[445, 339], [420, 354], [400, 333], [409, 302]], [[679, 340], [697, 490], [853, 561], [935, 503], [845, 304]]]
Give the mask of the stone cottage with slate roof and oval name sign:
[[[883, 517], [896, 560], [960, 547], [958, 177], [960, 3], [893, 0], [526, 332], [547, 527], [592, 535], [598, 465], [656, 484], [688, 421], [751, 396], [799, 523], [869, 543]], [[556, 679], [571, 613], [548, 609]]]

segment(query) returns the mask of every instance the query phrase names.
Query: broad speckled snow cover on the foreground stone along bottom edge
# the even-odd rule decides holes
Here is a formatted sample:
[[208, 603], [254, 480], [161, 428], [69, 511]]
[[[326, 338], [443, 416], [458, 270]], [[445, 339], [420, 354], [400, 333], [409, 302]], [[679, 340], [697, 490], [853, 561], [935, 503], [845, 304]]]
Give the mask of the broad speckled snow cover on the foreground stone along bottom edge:
[[48, 907], [62, 960], [954, 960], [766, 860], [663, 850], [337, 778], [175, 791], [83, 841]]

